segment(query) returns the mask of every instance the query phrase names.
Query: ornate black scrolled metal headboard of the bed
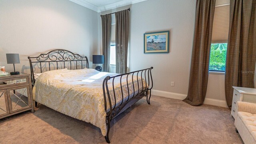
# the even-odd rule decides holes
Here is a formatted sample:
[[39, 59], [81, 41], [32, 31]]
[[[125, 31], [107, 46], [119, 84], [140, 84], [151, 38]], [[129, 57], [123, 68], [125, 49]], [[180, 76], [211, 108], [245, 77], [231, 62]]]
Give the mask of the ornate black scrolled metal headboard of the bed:
[[[28, 56], [28, 59], [30, 62], [30, 72], [33, 84], [35, 82], [34, 69], [36, 70], [36, 66], [40, 68], [40, 73], [43, 71], [63, 68], [83, 69], [83, 65], [86, 65], [86, 68], [89, 68], [88, 58], [86, 56], [80, 56], [79, 54], [74, 54], [68, 50], [52, 50], [47, 54], [40, 54], [37, 57]], [[83, 61], [85, 62], [83, 63]], [[33, 63], [35, 63], [34, 67]]]

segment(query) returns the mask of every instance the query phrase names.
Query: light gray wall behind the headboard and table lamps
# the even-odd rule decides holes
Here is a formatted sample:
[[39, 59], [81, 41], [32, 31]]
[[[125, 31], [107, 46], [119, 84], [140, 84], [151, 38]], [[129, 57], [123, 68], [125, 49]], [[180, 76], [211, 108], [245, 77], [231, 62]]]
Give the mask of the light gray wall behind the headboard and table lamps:
[[0, 66], [20, 54], [16, 70], [29, 73], [27, 56], [65, 49], [88, 56], [98, 50], [98, 13], [68, 0], [0, 0]]

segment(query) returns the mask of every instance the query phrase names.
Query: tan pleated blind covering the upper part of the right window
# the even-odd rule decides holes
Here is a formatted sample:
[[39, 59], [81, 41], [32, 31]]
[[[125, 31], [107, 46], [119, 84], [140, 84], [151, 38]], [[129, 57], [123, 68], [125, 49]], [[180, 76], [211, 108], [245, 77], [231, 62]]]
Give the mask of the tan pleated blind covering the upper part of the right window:
[[229, 5], [216, 6], [212, 27], [212, 44], [227, 43], [229, 28]]

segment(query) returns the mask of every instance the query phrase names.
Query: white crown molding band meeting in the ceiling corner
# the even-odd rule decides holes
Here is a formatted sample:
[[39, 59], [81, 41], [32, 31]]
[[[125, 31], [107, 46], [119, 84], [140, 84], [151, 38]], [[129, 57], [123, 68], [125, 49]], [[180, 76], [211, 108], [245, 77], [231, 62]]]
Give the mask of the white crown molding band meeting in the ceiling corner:
[[95, 12], [103, 12], [103, 11], [106, 11], [106, 10], [112, 10], [114, 8], [120, 8], [122, 6], [127, 6], [127, 5], [130, 5], [130, 4], [136, 4], [136, 3], [139, 3], [139, 2], [144, 2], [144, 1], [147, 1], [147, 0], [122, 0], [122, 1], [119, 1], [119, 2], [114, 2], [112, 4], [107, 4], [105, 6], [100, 6], [100, 7], [97, 7], [89, 2], [86, 2], [86, 0], [69, 0], [71, 2], [74, 2], [76, 4], [79, 4], [81, 6], [84, 6], [86, 8], [89, 8], [91, 10], [94, 10]]

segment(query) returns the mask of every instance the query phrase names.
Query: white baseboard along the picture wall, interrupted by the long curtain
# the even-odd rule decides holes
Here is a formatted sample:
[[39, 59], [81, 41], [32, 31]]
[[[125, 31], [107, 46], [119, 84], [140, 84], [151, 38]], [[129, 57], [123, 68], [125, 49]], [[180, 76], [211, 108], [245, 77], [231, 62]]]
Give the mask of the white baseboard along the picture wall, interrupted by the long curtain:
[[[186, 96], [187, 96], [186, 94], [165, 92], [165, 91], [161, 91], [161, 90], [152, 90], [151, 92], [152, 92], [152, 95], [162, 96], [162, 97], [166, 97], [166, 98], [174, 98], [174, 99], [178, 99], [178, 100], [184, 100], [184, 98], [186, 98]], [[226, 108], [228, 107], [225, 100], [216, 100], [216, 99], [212, 99], [212, 98], [205, 98], [204, 104], [209, 104], [209, 105], [213, 105], [213, 106], [221, 106], [221, 107], [226, 107]]]

